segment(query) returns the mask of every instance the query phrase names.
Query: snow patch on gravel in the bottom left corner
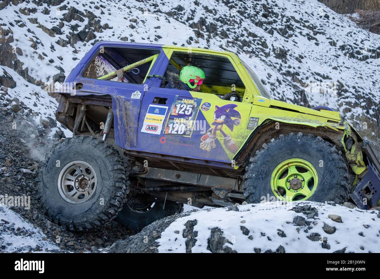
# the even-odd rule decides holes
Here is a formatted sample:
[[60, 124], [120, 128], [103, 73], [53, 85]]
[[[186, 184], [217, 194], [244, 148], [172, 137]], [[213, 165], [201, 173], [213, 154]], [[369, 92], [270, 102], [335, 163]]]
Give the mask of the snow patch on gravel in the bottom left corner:
[[[6, 224], [8, 221], [9, 224]], [[17, 230], [20, 228], [20, 230]], [[19, 214], [10, 210], [9, 207], [0, 206], [0, 251], [1, 252], [28, 252], [36, 246], [42, 251], [60, 249], [46, 237], [37, 227], [29, 224]], [[8, 245], [10, 244], [10, 245]]]

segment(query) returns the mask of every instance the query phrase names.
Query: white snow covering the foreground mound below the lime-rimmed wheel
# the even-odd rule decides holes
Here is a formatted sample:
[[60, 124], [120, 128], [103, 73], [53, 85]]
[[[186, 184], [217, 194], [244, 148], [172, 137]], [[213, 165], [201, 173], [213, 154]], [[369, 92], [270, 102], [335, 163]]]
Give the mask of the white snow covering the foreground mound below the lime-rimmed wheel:
[[[315, 217], [315, 220], [307, 219], [306, 215], [291, 210], [294, 206], [304, 204], [310, 204], [317, 208], [318, 216]], [[187, 238], [183, 238], [182, 233], [185, 229], [185, 223], [188, 220], [197, 220], [194, 231], [198, 232], [198, 236], [196, 236], [192, 253], [210, 253], [207, 250], [207, 239], [211, 235], [211, 229], [215, 227], [223, 230], [223, 236], [233, 243], [226, 243], [225, 245], [239, 253], [252, 253], [256, 247], [260, 248], [261, 252], [268, 249], [275, 251], [280, 245], [285, 248], [287, 253], [331, 253], [344, 247], [347, 247], [346, 253], [380, 252], [380, 219], [376, 216], [378, 211], [375, 211], [376, 214], [371, 214], [370, 210], [350, 209], [345, 206], [332, 206], [315, 202], [294, 202], [287, 205], [267, 202], [238, 207], [239, 211], [226, 211], [226, 208], [216, 208], [196, 211], [189, 216], [176, 219], [161, 233], [161, 238], [158, 240], [160, 244], [158, 251], [184, 253]], [[329, 214], [341, 216], [342, 223], [329, 219]], [[293, 218], [298, 215], [312, 222], [310, 224], [312, 229], [309, 229], [307, 233], [304, 232], [306, 226], [300, 227], [292, 223]], [[290, 223], [287, 224], [287, 222]], [[325, 233], [322, 229], [323, 222], [331, 227], [336, 227], [336, 232], [331, 235]], [[364, 225], [369, 225], [368, 229]], [[242, 233], [240, 226], [250, 230], [249, 235], [253, 236], [253, 240], [249, 239], [249, 235]], [[299, 232], [297, 232], [297, 228], [300, 228]], [[277, 229], [282, 230], [286, 237], [277, 235]], [[176, 230], [180, 233], [174, 233]], [[360, 236], [360, 232], [363, 232], [364, 236]], [[261, 233], [265, 233], [265, 236]], [[319, 233], [322, 237], [327, 237], [327, 244], [331, 246], [331, 249], [322, 248], [320, 241], [309, 240], [306, 236], [311, 233]], [[268, 237], [271, 240], [268, 240]], [[362, 246], [364, 250], [360, 249]]]

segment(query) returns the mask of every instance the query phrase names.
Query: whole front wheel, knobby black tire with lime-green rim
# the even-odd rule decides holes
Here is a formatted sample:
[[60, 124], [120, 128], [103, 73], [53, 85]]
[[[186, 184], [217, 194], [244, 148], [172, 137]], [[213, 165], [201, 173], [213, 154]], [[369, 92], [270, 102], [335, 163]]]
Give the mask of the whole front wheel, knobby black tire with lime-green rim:
[[335, 146], [302, 133], [280, 135], [264, 144], [250, 159], [243, 180], [248, 203], [310, 200], [342, 204], [350, 189], [347, 166]]

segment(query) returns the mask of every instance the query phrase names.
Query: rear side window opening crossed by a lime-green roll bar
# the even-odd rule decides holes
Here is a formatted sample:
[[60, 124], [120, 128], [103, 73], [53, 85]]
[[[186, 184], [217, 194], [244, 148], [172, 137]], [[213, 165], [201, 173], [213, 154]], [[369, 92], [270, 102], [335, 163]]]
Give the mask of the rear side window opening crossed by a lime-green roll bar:
[[156, 49], [101, 47], [82, 76], [142, 84], [159, 53]]

